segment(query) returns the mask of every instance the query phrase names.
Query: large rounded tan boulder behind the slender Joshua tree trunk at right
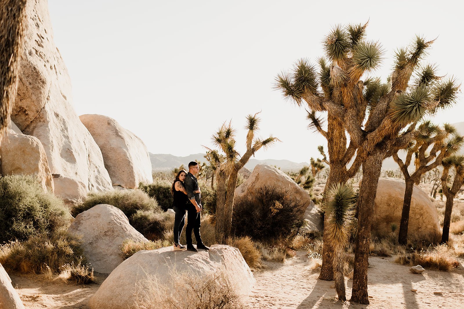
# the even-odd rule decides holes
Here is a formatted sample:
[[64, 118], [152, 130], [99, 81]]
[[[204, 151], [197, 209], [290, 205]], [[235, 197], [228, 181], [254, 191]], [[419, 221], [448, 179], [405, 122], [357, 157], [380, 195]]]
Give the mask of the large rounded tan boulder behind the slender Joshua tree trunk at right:
[[[380, 178], [374, 202], [372, 233], [388, 236], [392, 223], [400, 227], [405, 194], [405, 181], [397, 178]], [[398, 229], [397, 229], [398, 232]], [[418, 186], [414, 185], [409, 211], [408, 239], [437, 240], [440, 235], [437, 208]]]

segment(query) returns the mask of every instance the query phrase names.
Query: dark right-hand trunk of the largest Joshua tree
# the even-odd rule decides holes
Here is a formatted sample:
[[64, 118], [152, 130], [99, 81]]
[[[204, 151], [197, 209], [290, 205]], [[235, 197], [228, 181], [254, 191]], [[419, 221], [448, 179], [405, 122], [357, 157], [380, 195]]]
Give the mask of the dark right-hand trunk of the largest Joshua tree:
[[358, 235], [355, 240], [354, 275], [351, 301], [368, 304], [367, 295], [367, 263], [371, 240], [371, 222], [374, 214], [374, 200], [379, 184], [380, 171], [384, 153], [375, 148], [373, 153], [362, 164], [362, 182], [358, 199]]

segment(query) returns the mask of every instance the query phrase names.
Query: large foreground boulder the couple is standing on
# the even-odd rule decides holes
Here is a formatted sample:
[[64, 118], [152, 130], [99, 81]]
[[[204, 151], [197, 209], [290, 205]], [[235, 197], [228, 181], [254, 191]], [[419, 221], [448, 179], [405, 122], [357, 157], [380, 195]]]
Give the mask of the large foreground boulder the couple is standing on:
[[[250, 294], [255, 279], [237, 248], [213, 245], [209, 252], [173, 251], [172, 247], [142, 250], [111, 272], [90, 298], [89, 305], [91, 309], [133, 308], [137, 300], [143, 302], [144, 294], [158, 292], [150, 289], [167, 289], [174, 293], [174, 299], [184, 299], [186, 290], [176, 286], [178, 277], [190, 277], [201, 283], [201, 278], [219, 272], [238, 295]], [[153, 286], [153, 281], [159, 285]], [[221, 282], [218, 280], [217, 284]]]

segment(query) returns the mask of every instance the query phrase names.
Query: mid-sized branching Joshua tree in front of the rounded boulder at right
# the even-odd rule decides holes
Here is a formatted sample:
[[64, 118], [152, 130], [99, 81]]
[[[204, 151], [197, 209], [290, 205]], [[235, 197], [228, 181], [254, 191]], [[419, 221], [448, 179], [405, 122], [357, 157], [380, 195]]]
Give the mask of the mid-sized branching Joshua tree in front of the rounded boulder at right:
[[[435, 74], [433, 74], [435, 75]], [[464, 142], [462, 136], [455, 135], [453, 138], [445, 142], [450, 134], [456, 132], [456, 128], [449, 124], [445, 124], [443, 129], [432, 124], [430, 121], [424, 121], [419, 125], [417, 130], [413, 132], [414, 141], [408, 147], [405, 162], [400, 159], [398, 152], [393, 153], [393, 159], [400, 166], [405, 177], [405, 195], [403, 201], [403, 210], [401, 212], [400, 232], [398, 234], [398, 243], [406, 245], [407, 242], [407, 227], [409, 223], [409, 210], [411, 208], [412, 190], [414, 183], [419, 184], [422, 175], [437, 167], [441, 161], [457, 151]], [[429, 147], [432, 149], [427, 154]], [[415, 155], [414, 165], [416, 170], [410, 175], [408, 167], [411, 164], [412, 155]]]

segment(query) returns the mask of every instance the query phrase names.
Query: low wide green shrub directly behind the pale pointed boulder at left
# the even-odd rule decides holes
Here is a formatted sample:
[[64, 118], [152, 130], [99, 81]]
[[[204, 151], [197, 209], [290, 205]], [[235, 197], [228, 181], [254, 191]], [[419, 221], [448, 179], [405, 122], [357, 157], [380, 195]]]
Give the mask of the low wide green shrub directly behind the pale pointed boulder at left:
[[98, 204], [108, 204], [122, 210], [130, 218], [137, 210], [160, 210], [158, 203], [142, 190], [111, 190], [106, 192], [90, 192], [85, 201], [74, 208], [73, 216], [82, 213]]

